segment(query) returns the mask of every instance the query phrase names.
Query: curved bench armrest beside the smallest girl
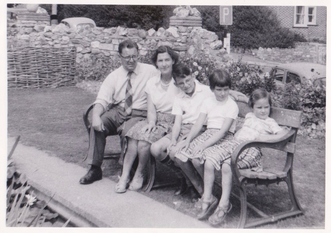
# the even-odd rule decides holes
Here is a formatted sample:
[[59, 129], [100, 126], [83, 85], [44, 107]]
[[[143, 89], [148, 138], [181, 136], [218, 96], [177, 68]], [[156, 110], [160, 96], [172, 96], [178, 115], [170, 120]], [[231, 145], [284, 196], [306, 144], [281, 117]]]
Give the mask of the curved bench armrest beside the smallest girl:
[[251, 147], [267, 147], [267, 148], [274, 148], [278, 150], [286, 150], [294, 153], [295, 151], [295, 144], [292, 143], [292, 146], [287, 146], [288, 142], [296, 135], [297, 130], [291, 129], [288, 133], [277, 140], [272, 140], [268, 142], [262, 141], [247, 141], [241, 143], [232, 153], [231, 155], [231, 171], [234, 176], [234, 181], [236, 183], [239, 182], [240, 172], [237, 166], [237, 162], [239, 159], [239, 155], [247, 148]]

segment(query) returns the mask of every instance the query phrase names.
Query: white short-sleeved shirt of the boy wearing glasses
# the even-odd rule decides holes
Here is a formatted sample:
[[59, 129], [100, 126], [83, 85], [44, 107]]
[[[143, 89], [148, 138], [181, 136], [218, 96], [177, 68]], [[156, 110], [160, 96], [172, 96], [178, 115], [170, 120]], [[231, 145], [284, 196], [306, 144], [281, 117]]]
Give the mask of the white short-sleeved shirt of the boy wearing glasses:
[[[173, 102], [171, 114], [181, 115], [182, 124], [194, 124], [200, 115], [203, 101], [214, 96], [209, 86], [203, 85], [197, 80], [194, 82], [195, 91], [192, 96], [181, 91]], [[204, 124], [207, 125], [207, 119]]]

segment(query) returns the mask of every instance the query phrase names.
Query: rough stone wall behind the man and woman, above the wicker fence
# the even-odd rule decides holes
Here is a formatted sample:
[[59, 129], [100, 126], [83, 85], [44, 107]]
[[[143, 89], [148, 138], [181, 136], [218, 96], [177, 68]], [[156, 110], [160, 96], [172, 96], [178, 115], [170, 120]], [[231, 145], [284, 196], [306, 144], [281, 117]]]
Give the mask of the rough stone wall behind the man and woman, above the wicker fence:
[[[200, 17], [199, 17], [200, 18]], [[201, 19], [201, 18], [200, 18]], [[90, 28], [85, 26], [74, 30], [64, 24], [49, 25], [49, 22], [8, 21], [8, 46], [75, 47], [76, 62], [94, 54], [106, 57], [117, 55], [118, 44], [132, 39], [139, 46], [142, 56], [154, 51], [160, 45], [169, 45], [180, 56], [204, 53], [222, 48], [222, 42], [211, 31], [201, 26], [170, 26], [168, 29], [153, 28], [145, 31], [136, 28], [112, 27]]]

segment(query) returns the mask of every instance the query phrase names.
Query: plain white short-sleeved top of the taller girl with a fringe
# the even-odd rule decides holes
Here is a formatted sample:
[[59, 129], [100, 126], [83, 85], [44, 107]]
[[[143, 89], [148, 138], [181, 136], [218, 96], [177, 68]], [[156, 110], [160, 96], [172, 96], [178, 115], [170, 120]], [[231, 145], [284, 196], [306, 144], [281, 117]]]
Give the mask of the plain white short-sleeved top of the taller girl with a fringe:
[[225, 117], [234, 119], [229, 132], [235, 132], [239, 109], [236, 102], [229, 96], [225, 101], [216, 100], [215, 95], [205, 99], [202, 103], [200, 112], [207, 114], [207, 128], [220, 129], [223, 126]]

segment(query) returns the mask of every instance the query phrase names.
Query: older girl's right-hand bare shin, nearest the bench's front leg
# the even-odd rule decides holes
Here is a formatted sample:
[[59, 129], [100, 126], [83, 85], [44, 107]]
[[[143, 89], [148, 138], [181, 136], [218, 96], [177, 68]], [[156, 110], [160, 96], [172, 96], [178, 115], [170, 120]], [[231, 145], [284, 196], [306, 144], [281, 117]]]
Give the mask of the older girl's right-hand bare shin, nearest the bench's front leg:
[[232, 171], [228, 163], [222, 164], [222, 196], [219, 200], [219, 207], [227, 210], [232, 189]]

